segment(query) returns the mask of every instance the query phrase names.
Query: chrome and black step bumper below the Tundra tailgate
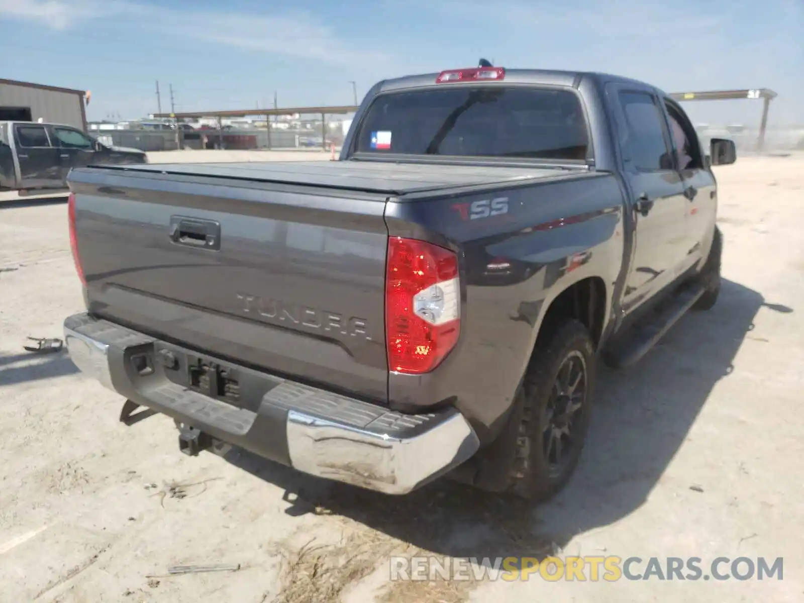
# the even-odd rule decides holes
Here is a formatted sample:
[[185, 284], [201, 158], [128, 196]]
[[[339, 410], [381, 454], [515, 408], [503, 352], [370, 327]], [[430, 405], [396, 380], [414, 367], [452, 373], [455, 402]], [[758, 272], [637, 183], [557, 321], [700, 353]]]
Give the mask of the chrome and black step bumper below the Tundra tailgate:
[[[268, 373], [236, 367], [262, 379], [258, 403], [236, 406], [183, 386], [182, 367], [158, 362], [183, 348], [88, 314], [64, 322], [72, 361], [106, 388], [181, 420], [220, 441], [322, 478], [386, 494], [406, 494], [447, 473], [478, 449], [478, 437], [453, 408], [405, 415], [376, 404], [312, 388]], [[187, 351], [188, 353], [194, 353]], [[141, 375], [132, 356], [150, 359]]]

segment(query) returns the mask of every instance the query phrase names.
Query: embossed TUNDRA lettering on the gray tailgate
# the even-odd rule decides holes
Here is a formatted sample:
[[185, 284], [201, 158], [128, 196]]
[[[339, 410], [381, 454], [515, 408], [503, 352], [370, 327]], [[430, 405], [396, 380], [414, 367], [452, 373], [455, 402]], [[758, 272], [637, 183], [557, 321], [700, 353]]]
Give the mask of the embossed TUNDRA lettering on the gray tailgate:
[[275, 324], [287, 326], [304, 326], [311, 330], [322, 330], [326, 333], [340, 333], [352, 337], [365, 337], [371, 341], [365, 318], [351, 316], [343, 317], [337, 312], [318, 310], [310, 306], [300, 306], [289, 301], [236, 293], [240, 300], [240, 308], [248, 314], [258, 314], [260, 318], [267, 319]]

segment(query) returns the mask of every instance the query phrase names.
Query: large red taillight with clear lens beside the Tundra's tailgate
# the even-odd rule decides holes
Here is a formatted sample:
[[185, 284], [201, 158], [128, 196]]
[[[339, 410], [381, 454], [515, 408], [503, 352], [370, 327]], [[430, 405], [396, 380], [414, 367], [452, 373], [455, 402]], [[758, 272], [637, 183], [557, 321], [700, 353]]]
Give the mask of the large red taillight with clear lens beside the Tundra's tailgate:
[[461, 333], [461, 286], [455, 253], [425, 241], [388, 240], [385, 337], [388, 370], [432, 371]]

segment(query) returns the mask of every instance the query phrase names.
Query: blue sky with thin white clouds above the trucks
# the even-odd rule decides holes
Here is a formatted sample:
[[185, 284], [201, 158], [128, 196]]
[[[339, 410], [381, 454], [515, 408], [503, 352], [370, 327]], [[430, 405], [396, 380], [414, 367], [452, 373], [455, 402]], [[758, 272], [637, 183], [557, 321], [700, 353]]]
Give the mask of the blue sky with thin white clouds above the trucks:
[[[667, 92], [772, 88], [804, 124], [804, 0], [0, 0], [0, 77], [90, 90], [88, 118], [349, 105], [376, 81], [473, 67], [600, 71]], [[687, 103], [756, 125], [761, 101]]]

